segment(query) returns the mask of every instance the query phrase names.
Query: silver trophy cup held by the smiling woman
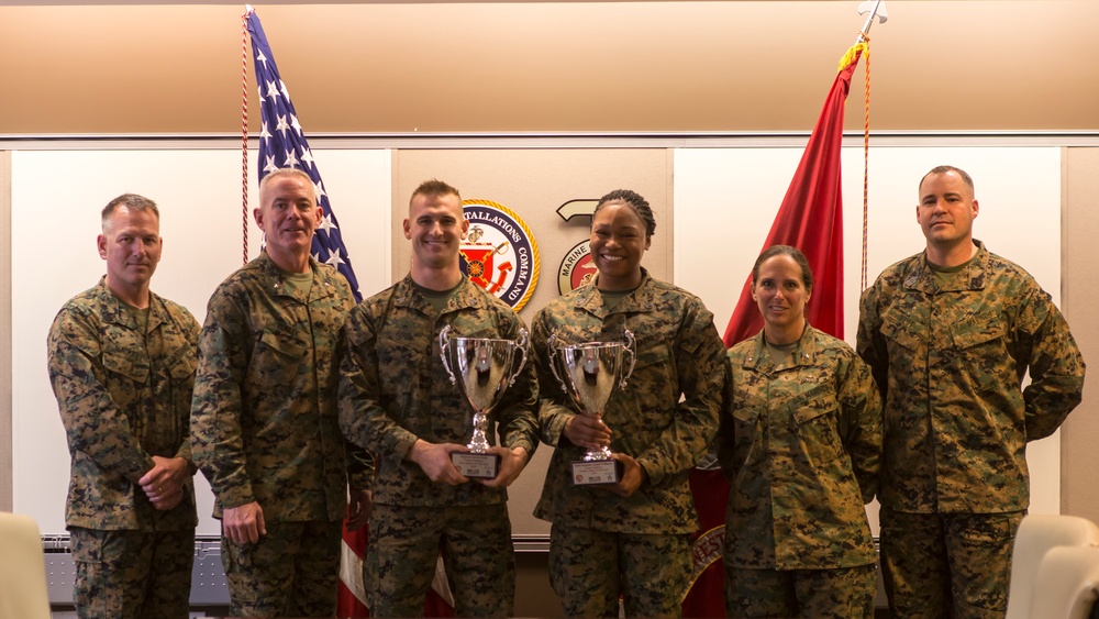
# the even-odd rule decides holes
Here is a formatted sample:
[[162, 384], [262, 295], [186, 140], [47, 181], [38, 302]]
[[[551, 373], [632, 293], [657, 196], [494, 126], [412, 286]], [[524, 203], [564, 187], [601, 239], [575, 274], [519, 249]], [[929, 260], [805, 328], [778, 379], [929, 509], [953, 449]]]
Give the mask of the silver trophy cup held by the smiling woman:
[[[637, 361], [633, 333], [625, 329], [625, 342], [587, 342], [555, 345], [557, 334], [546, 342], [550, 369], [560, 388], [580, 408], [581, 414], [601, 417], [607, 402], [624, 388]], [[629, 357], [629, 367], [626, 366]], [[560, 372], [565, 376], [562, 377]], [[584, 460], [573, 463], [573, 484], [615, 484], [621, 465], [608, 447], [588, 447]]]

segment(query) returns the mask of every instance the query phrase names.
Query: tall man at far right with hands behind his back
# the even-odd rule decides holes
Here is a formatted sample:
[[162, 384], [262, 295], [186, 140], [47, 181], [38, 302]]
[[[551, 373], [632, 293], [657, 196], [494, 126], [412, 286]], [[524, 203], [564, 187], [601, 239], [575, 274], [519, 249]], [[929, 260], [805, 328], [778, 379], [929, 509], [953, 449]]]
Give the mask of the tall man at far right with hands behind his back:
[[1003, 616], [1030, 502], [1026, 443], [1055, 432], [1084, 387], [1050, 295], [973, 239], [978, 209], [968, 174], [932, 169], [917, 207], [926, 251], [863, 292], [857, 350], [886, 401], [881, 561], [895, 617]]

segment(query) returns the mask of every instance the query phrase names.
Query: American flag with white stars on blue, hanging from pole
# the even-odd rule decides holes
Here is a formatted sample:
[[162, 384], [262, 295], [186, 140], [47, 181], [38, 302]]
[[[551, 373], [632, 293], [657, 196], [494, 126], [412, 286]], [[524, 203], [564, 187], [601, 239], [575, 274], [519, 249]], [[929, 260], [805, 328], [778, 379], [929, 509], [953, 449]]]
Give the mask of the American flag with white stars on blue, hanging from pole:
[[[334, 266], [351, 284], [355, 300], [362, 301], [358, 280], [352, 268], [347, 247], [343, 243], [340, 222], [336, 220], [324, 183], [313, 162], [306, 134], [301, 129], [298, 113], [290, 101], [290, 93], [275, 66], [275, 55], [267, 43], [267, 35], [259, 23], [259, 16], [252, 7], [244, 15], [245, 27], [252, 40], [252, 60], [259, 88], [262, 129], [259, 131], [259, 179], [282, 167], [304, 170], [317, 191], [317, 203], [323, 214], [313, 235], [312, 255], [318, 262]], [[246, 108], [245, 108], [246, 109]], [[246, 258], [245, 258], [246, 259]], [[363, 559], [366, 555], [368, 532], [365, 529], [348, 531], [344, 526], [340, 563], [340, 592], [336, 614], [340, 617], [369, 617], [366, 607], [366, 590], [363, 585]], [[428, 592], [424, 605], [425, 617], [454, 617], [453, 598], [446, 584], [445, 574], [437, 571], [432, 589]]]

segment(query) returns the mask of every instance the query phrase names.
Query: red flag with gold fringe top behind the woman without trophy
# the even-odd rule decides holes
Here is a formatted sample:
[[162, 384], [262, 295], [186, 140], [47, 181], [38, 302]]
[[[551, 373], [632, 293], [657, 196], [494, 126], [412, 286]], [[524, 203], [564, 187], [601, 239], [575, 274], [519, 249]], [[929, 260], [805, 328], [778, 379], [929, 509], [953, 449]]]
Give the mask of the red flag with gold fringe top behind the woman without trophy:
[[[839, 74], [824, 101], [824, 109], [809, 136], [801, 163], [793, 173], [775, 223], [761, 247], [762, 251], [776, 244], [792, 245], [806, 254], [817, 281], [815, 288], [831, 291], [813, 297], [814, 302], [806, 308], [806, 318], [814, 328], [840, 339], [843, 339], [843, 200], [840, 183], [843, 112], [847, 90], [851, 88], [851, 76], [864, 53], [867, 54], [867, 68], [869, 67], [869, 40], [866, 32], [875, 16], [881, 21], [886, 19], [880, 0], [865, 2], [859, 7], [859, 12], [870, 12], [870, 16], [863, 26], [859, 41], [840, 60]], [[866, 88], [869, 92], [868, 71]], [[865, 203], [863, 230], [865, 240]], [[864, 258], [864, 279], [865, 265]], [[725, 346], [730, 347], [755, 335], [761, 329], [763, 317], [752, 300], [750, 275], [725, 329]], [[693, 578], [682, 604], [684, 617], [724, 617], [724, 566], [721, 552], [725, 538], [729, 483], [714, 464], [711, 468], [691, 469], [690, 486], [700, 529], [695, 540]]]

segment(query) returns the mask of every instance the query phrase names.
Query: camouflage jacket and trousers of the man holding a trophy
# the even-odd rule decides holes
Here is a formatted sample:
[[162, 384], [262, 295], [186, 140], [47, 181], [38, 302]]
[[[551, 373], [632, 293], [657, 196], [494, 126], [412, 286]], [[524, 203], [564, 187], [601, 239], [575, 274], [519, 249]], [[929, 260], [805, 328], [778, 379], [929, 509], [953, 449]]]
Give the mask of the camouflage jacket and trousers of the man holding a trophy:
[[[409, 276], [347, 319], [340, 419], [353, 442], [378, 455], [365, 577], [367, 606], [381, 617], [423, 612], [440, 550], [458, 616], [513, 609], [507, 490], [433, 483], [406, 460], [418, 439], [464, 445], [473, 438], [473, 408], [440, 357], [444, 325], [455, 338], [504, 340], [519, 339], [523, 327], [514, 310], [468, 278], [437, 314]], [[489, 414], [490, 443], [499, 433], [503, 446], [534, 452], [536, 394], [528, 364]]]

